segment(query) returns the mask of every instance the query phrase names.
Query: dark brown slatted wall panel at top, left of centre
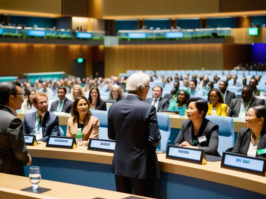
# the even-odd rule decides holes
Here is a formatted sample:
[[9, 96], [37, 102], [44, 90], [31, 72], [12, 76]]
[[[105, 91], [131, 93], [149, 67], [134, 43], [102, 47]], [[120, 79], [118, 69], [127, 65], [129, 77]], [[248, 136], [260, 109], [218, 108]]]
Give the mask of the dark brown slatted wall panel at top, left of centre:
[[64, 16], [89, 16], [89, 1], [88, 0], [61, 0], [62, 15]]

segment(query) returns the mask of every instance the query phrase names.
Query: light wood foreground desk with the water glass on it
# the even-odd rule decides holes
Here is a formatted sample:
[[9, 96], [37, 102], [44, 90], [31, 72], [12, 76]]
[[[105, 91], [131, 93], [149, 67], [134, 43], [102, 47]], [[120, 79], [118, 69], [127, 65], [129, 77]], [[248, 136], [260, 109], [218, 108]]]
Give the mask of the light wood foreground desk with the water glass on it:
[[[71, 174], [69, 174], [71, 175]], [[85, 187], [75, 184], [61, 183], [56, 181], [41, 180], [40, 187], [50, 188], [51, 191], [47, 191], [41, 194], [19, 191], [27, 187], [31, 187], [29, 178], [8, 175], [0, 173], [0, 196], [1, 198], [7, 198], [4, 196], [12, 196], [9, 198], [24, 198], [22, 196], [27, 196], [31, 198], [106, 198], [106, 199], [122, 199], [132, 196], [131, 194], [108, 191], [104, 189], [97, 189], [92, 187]], [[9, 189], [9, 190], [8, 190]], [[13, 190], [12, 190], [13, 189]], [[4, 193], [6, 192], [6, 193]], [[11, 192], [11, 193], [8, 193]], [[13, 193], [13, 195], [11, 195]], [[6, 195], [4, 195], [6, 194]], [[15, 195], [17, 195], [15, 197]], [[21, 197], [19, 197], [21, 196]], [[46, 197], [45, 197], [46, 196]], [[142, 197], [146, 198], [146, 197]]]

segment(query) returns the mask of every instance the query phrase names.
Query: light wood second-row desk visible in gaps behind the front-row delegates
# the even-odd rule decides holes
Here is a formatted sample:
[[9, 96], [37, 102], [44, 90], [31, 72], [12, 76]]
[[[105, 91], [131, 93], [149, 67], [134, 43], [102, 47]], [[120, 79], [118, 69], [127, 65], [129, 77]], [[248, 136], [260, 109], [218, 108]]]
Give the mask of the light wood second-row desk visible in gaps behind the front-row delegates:
[[[24, 113], [18, 113], [17, 116], [23, 120], [25, 114]], [[67, 122], [68, 122], [69, 117], [68, 116], [58, 116], [58, 117], [59, 117], [59, 124], [67, 126]], [[178, 129], [181, 129], [183, 121], [187, 119], [186, 116], [180, 117], [179, 115], [173, 115], [173, 114], [169, 114], [169, 118], [170, 118], [171, 128], [178, 128]], [[240, 128], [246, 128], [246, 123], [234, 121], [234, 131], [238, 132]]]

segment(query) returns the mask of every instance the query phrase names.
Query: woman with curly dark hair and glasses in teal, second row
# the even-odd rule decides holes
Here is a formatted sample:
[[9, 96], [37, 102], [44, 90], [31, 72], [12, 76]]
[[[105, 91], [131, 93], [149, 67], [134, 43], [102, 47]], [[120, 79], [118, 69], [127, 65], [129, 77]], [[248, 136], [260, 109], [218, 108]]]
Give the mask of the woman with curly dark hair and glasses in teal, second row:
[[179, 90], [177, 93], [177, 99], [170, 101], [168, 111], [178, 111], [177, 107], [186, 107], [186, 102], [189, 98], [190, 95], [188, 92], [185, 90]]

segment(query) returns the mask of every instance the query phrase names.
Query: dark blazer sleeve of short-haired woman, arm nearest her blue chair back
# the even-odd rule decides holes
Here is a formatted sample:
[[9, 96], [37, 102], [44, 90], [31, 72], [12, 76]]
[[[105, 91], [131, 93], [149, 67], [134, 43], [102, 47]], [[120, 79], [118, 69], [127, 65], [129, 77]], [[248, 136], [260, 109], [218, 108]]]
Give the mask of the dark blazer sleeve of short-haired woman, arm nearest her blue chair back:
[[204, 150], [205, 154], [215, 155], [218, 149], [218, 144], [219, 144], [218, 130], [219, 130], [218, 125], [215, 125], [214, 127], [212, 127], [209, 130], [211, 133], [209, 146], [199, 146], [198, 149]]

